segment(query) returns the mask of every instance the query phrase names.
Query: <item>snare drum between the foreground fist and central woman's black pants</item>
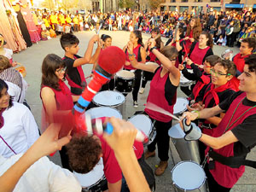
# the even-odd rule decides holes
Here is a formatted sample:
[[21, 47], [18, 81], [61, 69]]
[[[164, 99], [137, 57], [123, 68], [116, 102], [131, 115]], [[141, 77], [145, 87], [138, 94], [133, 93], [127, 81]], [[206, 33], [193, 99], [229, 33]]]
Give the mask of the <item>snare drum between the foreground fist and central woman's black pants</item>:
[[143, 133], [148, 137], [148, 145], [154, 141], [156, 136], [156, 131], [154, 125], [152, 124], [151, 119], [148, 118], [145, 114], [136, 114], [128, 119], [132, 125], [134, 125], [138, 130], [143, 131]]

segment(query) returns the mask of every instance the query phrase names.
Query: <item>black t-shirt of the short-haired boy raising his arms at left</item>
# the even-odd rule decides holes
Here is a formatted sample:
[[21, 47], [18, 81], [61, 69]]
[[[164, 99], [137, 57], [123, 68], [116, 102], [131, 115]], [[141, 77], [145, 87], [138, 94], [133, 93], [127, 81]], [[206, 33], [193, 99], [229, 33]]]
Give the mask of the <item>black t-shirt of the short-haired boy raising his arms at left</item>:
[[[76, 57], [76, 59], [79, 59], [81, 58], [81, 56], [79, 55], [74, 55]], [[72, 59], [70, 57], [67, 57], [65, 56], [64, 57], [64, 60], [65, 61], [65, 64], [66, 64], [66, 67], [67, 67], [67, 75], [68, 77], [73, 80], [73, 82], [75, 84], [78, 84], [79, 86], [81, 85], [81, 78], [80, 78], [80, 75], [79, 75], [79, 71], [77, 69], [77, 67], [73, 67], [73, 63], [75, 61], [75, 59]]]

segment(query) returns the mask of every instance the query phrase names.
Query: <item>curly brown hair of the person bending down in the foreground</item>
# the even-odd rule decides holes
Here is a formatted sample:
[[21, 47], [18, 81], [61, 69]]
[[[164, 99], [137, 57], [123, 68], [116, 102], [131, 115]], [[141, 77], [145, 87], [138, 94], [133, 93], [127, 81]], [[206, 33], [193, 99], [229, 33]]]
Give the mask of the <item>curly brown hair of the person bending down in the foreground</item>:
[[73, 136], [67, 144], [69, 166], [75, 172], [87, 173], [99, 162], [102, 146], [95, 137]]

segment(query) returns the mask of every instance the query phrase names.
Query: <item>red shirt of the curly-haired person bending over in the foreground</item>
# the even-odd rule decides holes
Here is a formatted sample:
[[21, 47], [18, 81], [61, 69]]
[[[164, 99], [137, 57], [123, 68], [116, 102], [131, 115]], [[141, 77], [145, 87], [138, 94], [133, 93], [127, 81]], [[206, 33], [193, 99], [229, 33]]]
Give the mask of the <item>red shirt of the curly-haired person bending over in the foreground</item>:
[[[119, 163], [116, 160], [113, 149], [109, 147], [108, 143], [99, 137], [102, 143], [102, 159], [104, 164], [104, 174], [108, 180], [108, 183], [117, 183], [122, 179], [122, 171], [119, 167]], [[135, 141], [133, 144], [134, 152], [139, 160], [143, 155], [143, 143]]]

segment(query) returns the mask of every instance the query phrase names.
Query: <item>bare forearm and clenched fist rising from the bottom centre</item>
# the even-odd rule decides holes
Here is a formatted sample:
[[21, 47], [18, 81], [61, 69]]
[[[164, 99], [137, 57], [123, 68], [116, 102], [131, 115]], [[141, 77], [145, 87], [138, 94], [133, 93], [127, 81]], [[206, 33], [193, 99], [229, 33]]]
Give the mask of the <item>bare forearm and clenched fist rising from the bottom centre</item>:
[[148, 183], [132, 148], [137, 129], [130, 122], [122, 119], [111, 118], [110, 122], [113, 125], [113, 133], [111, 135], [105, 133], [104, 138], [113, 148], [130, 191], [149, 192]]

